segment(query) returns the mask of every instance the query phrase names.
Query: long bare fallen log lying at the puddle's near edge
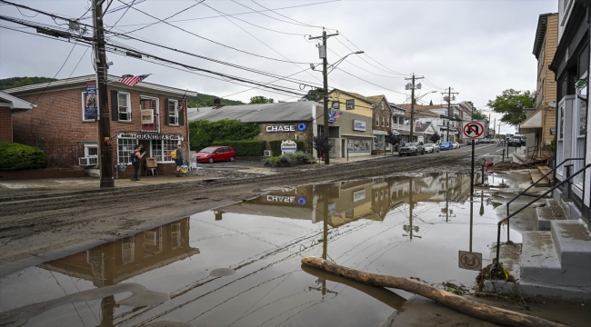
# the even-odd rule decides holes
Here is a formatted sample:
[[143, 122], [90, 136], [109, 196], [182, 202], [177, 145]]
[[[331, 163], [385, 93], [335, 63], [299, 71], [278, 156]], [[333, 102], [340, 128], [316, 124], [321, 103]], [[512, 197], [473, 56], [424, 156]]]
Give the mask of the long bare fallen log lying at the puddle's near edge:
[[387, 276], [377, 273], [360, 272], [355, 269], [339, 266], [335, 263], [329, 263], [326, 260], [309, 256], [302, 258], [302, 263], [315, 267], [316, 269], [331, 272], [338, 276], [363, 282], [368, 285], [379, 287], [393, 287], [406, 292], [414, 292], [425, 296], [428, 299], [444, 304], [457, 312], [465, 313], [469, 316], [484, 320], [486, 322], [495, 322], [506, 326], [566, 326], [558, 322], [550, 322], [542, 318], [530, 316], [527, 314], [512, 312], [509, 310], [496, 308], [492, 305], [474, 302], [465, 297], [458, 296], [451, 292], [439, 290], [423, 282], [416, 282], [409, 278]]

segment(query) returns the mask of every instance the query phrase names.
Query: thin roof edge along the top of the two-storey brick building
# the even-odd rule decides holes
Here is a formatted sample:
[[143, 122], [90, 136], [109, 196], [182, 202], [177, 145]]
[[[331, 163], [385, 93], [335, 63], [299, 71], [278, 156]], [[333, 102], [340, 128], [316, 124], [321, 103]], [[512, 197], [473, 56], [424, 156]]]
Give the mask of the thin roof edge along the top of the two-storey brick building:
[[[152, 84], [146, 82], [140, 82], [135, 84], [135, 86], [131, 87], [119, 82], [121, 77], [115, 75], [107, 75], [107, 83], [111, 85], [115, 85], [117, 87], [129, 88], [129, 89], [144, 89], [149, 91], [159, 91], [162, 93], [167, 94], [185, 94], [187, 96], [196, 96], [197, 92], [195, 91], [188, 91], [182, 90], [175, 87], [160, 85], [160, 84]], [[39, 84], [30, 84], [25, 86], [18, 86], [13, 87], [10, 89], [5, 89], [4, 92], [6, 94], [36, 94], [41, 92], [51, 92], [51, 91], [59, 91], [60, 87], [67, 87], [73, 86], [75, 84], [85, 84], [87, 82], [94, 82], [96, 80], [95, 74], [89, 74], [84, 76], [77, 76], [72, 78], [61, 79], [53, 82], [47, 83], [39, 83]]]

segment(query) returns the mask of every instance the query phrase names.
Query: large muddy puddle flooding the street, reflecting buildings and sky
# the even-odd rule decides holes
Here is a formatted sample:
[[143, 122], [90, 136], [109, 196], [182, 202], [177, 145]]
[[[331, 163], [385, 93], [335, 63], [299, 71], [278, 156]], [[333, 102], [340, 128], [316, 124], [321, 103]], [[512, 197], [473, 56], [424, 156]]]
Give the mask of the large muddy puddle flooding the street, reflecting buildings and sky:
[[[301, 266], [308, 255], [429, 283], [472, 285], [498, 219], [456, 173], [272, 191], [0, 279], [12, 326], [379, 326], [406, 292]], [[512, 240], [521, 236], [512, 231]], [[515, 236], [514, 236], [515, 235]], [[475, 268], [474, 257], [464, 261]]]

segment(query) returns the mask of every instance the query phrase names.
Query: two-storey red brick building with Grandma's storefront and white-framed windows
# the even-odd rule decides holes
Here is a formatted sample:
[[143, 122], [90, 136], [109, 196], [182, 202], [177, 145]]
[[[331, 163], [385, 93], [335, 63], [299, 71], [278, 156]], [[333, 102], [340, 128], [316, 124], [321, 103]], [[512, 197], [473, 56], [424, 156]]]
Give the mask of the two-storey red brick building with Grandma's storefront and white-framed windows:
[[[170, 152], [178, 143], [185, 154], [188, 150], [186, 101], [182, 100], [185, 94], [196, 93], [145, 82], [130, 87], [118, 80], [108, 76], [113, 164], [128, 165], [122, 173], [131, 175], [130, 151], [143, 144], [145, 158], [155, 158], [158, 173], [173, 173]], [[85, 109], [89, 106], [86, 88], [94, 82], [93, 74], [5, 90], [37, 105], [35, 110], [13, 115], [14, 142], [42, 149], [50, 166], [82, 165], [87, 173], [93, 173], [99, 162], [98, 124], [95, 116], [89, 115], [92, 111]], [[142, 164], [140, 173], [144, 171]]]

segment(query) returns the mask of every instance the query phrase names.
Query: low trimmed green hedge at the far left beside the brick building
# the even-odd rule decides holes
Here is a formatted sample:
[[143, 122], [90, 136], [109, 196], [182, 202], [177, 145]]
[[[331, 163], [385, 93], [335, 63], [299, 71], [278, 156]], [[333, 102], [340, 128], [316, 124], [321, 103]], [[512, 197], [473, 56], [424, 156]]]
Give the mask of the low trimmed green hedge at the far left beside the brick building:
[[24, 170], [47, 167], [45, 153], [25, 144], [0, 142], [0, 170]]

